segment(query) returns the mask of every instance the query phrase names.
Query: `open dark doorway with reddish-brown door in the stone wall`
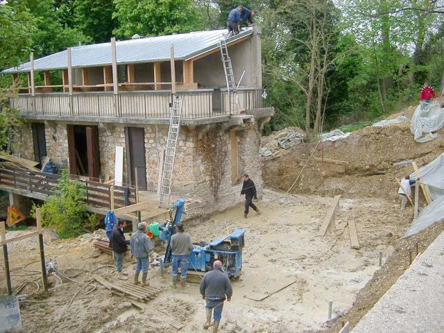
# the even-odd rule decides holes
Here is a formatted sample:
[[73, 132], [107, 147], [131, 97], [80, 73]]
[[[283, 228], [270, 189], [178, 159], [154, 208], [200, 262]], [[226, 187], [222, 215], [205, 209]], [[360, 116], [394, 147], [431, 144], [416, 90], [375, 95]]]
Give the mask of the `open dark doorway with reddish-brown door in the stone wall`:
[[97, 126], [67, 125], [69, 173], [98, 179], [100, 176]]

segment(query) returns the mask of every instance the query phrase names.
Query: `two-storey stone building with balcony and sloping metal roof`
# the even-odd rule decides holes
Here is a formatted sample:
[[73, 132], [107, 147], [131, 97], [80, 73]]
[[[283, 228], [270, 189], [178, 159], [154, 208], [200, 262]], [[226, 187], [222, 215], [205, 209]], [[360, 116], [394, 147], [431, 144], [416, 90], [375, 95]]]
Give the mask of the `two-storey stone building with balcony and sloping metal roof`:
[[[246, 172], [260, 195], [260, 137], [273, 115], [262, 105], [261, 31], [247, 28], [226, 40], [241, 78], [236, 105], [221, 61], [223, 33], [77, 46], [4, 70], [14, 79], [28, 74], [28, 87], [11, 101], [26, 119], [21, 157], [49, 156], [71, 174], [116, 181], [116, 147], [123, 147], [121, 182], [135, 185], [137, 174], [139, 190], [158, 193], [176, 89], [183, 108], [172, 194], [211, 203], [205, 212], [222, 210], [239, 200]], [[44, 85], [34, 85], [38, 71]], [[57, 73], [62, 85], [51, 85]]]

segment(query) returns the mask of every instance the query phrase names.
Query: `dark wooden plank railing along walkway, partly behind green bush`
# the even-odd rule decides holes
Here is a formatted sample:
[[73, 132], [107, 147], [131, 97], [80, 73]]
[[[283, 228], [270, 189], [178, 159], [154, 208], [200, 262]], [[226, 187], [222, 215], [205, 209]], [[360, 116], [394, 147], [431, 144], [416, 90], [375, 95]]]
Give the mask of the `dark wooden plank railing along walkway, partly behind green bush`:
[[[86, 205], [111, 209], [111, 198], [114, 198], [114, 208], [125, 207], [136, 203], [135, 187], [109, 185], [103, 182], [84, 180], [77, 176], [70, 176], [83, 182], [86, 187], [86, 195], [83, 199]], [[27, 169], [9, 167], [0, 168], [0, 187], [19, 189], [29, 193], [51, 196], [56, 193], [60, 175], [30, 171]], [[114, 196], [111, 195], [111, 191]]]

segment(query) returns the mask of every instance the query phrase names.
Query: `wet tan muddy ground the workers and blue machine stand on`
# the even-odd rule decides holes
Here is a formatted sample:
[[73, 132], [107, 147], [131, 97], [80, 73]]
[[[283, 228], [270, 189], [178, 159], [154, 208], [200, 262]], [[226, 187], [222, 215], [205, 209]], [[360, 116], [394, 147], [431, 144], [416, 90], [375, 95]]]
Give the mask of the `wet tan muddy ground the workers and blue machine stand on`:
[[[265, 190], [257, 203], [260, 216], [253, 212], [243, 219], [243, 207], [238, 205], [205, 223], [187, 223], [194, 241], [209, 241], [238, 228], [246, 230], [243, 275], [233, 282], [234, 296], [232, 302], [225, 303], [221, 332], [318, 332], [327, 321], [328, 300], [333, 300], [334, 316], [352, 306], [359, 290], [379, 268], [379, 250], [384, 261], [393, 253], [412, 212], [400, 214], [397, 203], [378, 198], [344, 198], [335, 225], [325, 237], [318, 236], [331, 203], [332, 198], [284, 196]], [[350, 219], [357, 223], [359, 250], [350, 248], [345, 228]], [[24, 332], [176, 332], [167, 323], [171, 320], [185, 325], [180, 332], [205, 332], [201, 328], [204, 301], [198, 284], [172, 290], [169, 279], [161, 278], [157, 268], [150, 271], [151, 284], [164, 291], [142, 312], [96, 282], [85, 286], [92, 277], [87, 272], [95, 268], [99, 270], [94, 273], [114, 278], [112, 268], [105, 266], [112, 264], [110, 256], [92, 256], [93, 238], [94, 234], [86, 234], [58, 240], [46, 232], [46, 257], [56, 258], [58, 269], [72, 279], [65, 279], [48, 296], [37, 293], [28, 298], [38, 302], [21, 303]], [[157, 246], [156, 251], [162, 252], [162, 247]], [[38, 271], [38, 262], [26, 266], [26, 271], [20, 268], [37, 259], [36, 241], [23, 240], [10, 248], [13, 289], [24, 280], [38, 280], [39, 275], [32, 274]], [[133, 275], [130, 261], [127, 257], [126, 271]], [[32, 275], [17, 276], [23, 274]], [[56, 279], [50, 280], [53, 287]], [[250, 299], [262, 298], [291, 282], [263, 301]], [[32, 293], [33, 289], [29, 285], [20, 293]]]

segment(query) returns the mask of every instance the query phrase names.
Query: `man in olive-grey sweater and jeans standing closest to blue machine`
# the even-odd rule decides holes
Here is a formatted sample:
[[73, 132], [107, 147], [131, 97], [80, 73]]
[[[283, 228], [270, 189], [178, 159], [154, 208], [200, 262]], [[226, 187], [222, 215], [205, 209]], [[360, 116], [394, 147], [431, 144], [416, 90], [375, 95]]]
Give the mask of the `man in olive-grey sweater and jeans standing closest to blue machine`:
[[173, 262], [171, 268], [171, 283], [172, 288], [176, 288], [176, 280], [178, 278], [178, 271], [180, 267], [180, 286], [186, 287], [188, 257], [191, 250], [193, 250], [193, 242], [191, 236], [184, 232], [182, 223], [176, 224], [176, 234], [171, 237], [171, 250], [173, 255]]

